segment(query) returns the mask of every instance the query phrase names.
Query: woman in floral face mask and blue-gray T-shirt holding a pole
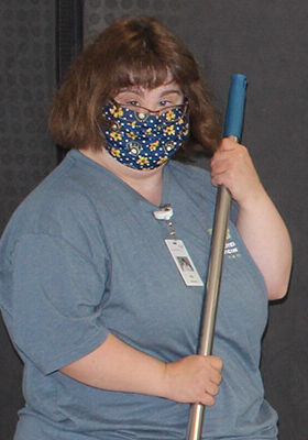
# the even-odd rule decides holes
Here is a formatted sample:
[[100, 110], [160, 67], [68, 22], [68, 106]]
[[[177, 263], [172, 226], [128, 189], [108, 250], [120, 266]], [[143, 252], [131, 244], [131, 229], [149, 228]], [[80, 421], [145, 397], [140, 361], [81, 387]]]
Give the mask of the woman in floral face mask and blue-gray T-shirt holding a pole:
[[[72, 151], [1, 242], [2, 312], [25, 364], [15, 440], [183, 440], [191, 403], [209, 407], [204, 439], [276, 439], [258, 363], [289, 237], [245, 147], [220, 143], [191, 54], [154, 19], [116, 22], [70, 68], [51, 132]], [[169, 161], [196, 144], [211, 176]], [[222, 184], [234, 201], [215, 355], [200, 356]]]

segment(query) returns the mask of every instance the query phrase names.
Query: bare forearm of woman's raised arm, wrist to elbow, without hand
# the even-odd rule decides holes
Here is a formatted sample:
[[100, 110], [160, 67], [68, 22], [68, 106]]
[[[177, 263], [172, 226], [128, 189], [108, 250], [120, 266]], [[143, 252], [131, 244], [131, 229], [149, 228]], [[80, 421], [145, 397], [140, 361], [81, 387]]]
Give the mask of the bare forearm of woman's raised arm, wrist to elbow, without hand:
[[263, 187], [240, 206], [237, 227], [263, 274], [268, 298], [282, 298], [289, 282], [292, 244], [287, 228]]

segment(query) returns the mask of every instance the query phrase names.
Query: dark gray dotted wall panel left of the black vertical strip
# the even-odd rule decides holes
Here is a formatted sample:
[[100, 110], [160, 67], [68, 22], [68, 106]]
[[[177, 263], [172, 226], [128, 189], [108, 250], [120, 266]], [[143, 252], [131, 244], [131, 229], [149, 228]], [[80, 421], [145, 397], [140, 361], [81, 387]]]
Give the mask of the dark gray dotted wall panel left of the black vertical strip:
[[[55, 2], [0, 2], [0, 231], [18, 204], [56, 165], [46, 130], [55, 86]], [[0, 440], [22, 406], [21, 363], [0, 320]], [[42, 439], [43, 440], [43, 439]]]

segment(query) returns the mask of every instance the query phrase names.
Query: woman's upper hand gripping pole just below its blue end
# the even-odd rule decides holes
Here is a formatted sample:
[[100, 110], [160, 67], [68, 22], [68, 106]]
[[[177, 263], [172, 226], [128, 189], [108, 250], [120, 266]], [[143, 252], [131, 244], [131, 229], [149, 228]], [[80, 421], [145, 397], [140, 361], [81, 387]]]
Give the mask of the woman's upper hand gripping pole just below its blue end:
[[245, 146], [224, 138], [211, 160], [212, 185], [224, 185], [240, 206], [264, 193]]

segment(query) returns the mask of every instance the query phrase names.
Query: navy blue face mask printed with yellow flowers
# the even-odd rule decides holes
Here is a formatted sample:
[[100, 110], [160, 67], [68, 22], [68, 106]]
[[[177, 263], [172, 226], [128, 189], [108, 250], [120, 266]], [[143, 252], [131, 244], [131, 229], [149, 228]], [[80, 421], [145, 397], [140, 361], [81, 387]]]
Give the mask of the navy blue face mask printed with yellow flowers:
[[187, 105], [151, 111], [117, 102], [102, 109], [107, 151], [121, 164], [153, 169], [168, 161], [188, 136]]

